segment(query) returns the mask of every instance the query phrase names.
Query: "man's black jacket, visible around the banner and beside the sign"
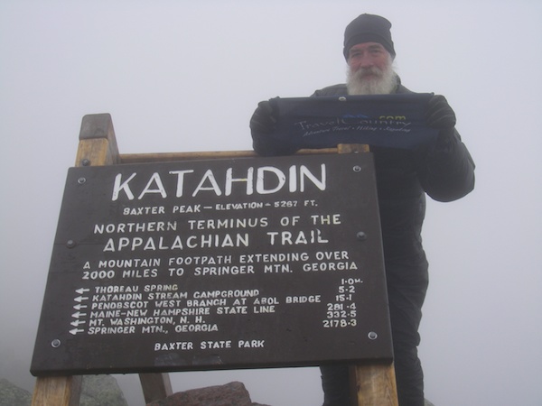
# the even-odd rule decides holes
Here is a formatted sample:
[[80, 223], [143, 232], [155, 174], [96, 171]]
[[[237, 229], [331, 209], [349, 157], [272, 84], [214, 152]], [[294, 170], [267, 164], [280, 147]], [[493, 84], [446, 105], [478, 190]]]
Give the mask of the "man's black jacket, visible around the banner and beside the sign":
[[[397, 93], [410, 92], [398, 85]], [[347, 95], [345, 85], [314, 92], [313, 97]], [[447, 131], [448, 134], [444, 132]], [[277, 145], [265, 135], [255, 135], [254, 149], [262, 155], [287, 154], [285, 145]], [[425, 217], [425, 193], [438, 201], [463, 198], [474, 188], [474, 163], [455, 129], [443, 130], [436, 143], [410, 151], [370, 147], [375, 157], [378, 206], [388, 263], [425, 261], [421, 230]]]

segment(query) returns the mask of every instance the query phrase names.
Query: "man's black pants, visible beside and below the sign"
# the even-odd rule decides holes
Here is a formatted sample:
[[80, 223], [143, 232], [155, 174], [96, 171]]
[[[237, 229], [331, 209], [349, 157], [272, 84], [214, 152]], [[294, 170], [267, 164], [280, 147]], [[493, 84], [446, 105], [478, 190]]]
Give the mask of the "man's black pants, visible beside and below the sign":
[[[424, 406], [424, 373], [417, 332], [427, 291], [425, 256], [411, 263], [386, 263], [389, 317], [399, 406]], [[323, 406], [350, 406], [348, 365], [322, 365]]]

